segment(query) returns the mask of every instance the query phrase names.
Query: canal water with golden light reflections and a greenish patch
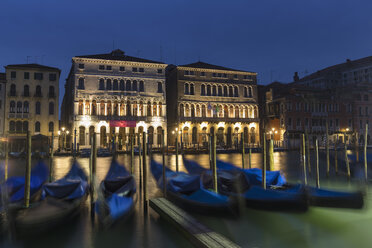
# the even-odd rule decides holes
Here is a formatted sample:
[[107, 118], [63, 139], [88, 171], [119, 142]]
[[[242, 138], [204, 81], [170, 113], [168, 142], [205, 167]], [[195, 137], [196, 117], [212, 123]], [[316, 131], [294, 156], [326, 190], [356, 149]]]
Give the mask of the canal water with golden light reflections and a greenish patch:
[[[336, 190], [361, 189], [365, 191], [366, 206], [362, 210], [311, 207], [306, 213], [283, 213], [244, 209], [237, 219], [194, 216], [206, 226], [225, 235], [242, 247], [371, 247], [371, 190], [362, 180], [363, 174], [360, 166], [351, 165], [352, 180], [347, 180], [342, 156], [342, 153], [339, 152], [338, 175], [335, 173], [334, 161], [331, 159], [331, 176], [326, 178], [325, 155], [321, 153], [320, 185]], [[204, 167], [209, 165], [207, 154], [186, 155], [186, 157], [197, 160]], [[238, 166], [242, 164], [240, 154], [218, 154], [218, 158]], [[158, 154], [154, 154], [154, 159], [159, 162], [162, 160], [161, 155]], [[175, 155], [166, 157], [167, 166], [174, 170], [175, 159]], [[88, 173], [89, 159], [78, 158], [77, 160]], [[129, 155], [119, 155], [118, 161], [129, 169]], [[274, 161], [274, 169], [281, 170], [290, 182], [302, 182], [303, 172], [298, 151], [275, 152]], [[33, 161], [33, 164], [36, 162]], [[110, 162], [111, 158], [97, 158], [97, 186], [105, 177]], [[179, 162], [180, 169], [184, 170], [181, 157], [179, 157]], [[309, 181], [310, 184], [315, 185], [314, 156], [311, 156], [311, 162], [312, 174]], [[71, 163], [71, 157], [55, 157], [54, 178], [63, 177], [69, 170]], [[0, 164], [3, 166], [3, 161]], [[137, 184], [139, 184], [140, 175], [138, 164], [138, 156], [136, 156], [134, 173]], [[245, 165], [248, 165], [248, 156], [245, 158]], [[252, 167], [261, 168], [261, 166], [261, 154], [253, 153]], [[24, 161], [9, 161], [10, 176], [23, 175], [23, 173]], [[149, 198], [161, 196], [151, 173], [148, 175], [148, 194]], [[43, 234], [18, 237], [13, 235], [13, 238], [2, 237], [0, 247], [192, 247], [181, 233], [150, 208], [145, 214], [141, 197], [137, 201], [134, 215], [109, 229], [99, 227], [96, 222], [92, 222], [89, 202], [88, 199], [77, 220]]]

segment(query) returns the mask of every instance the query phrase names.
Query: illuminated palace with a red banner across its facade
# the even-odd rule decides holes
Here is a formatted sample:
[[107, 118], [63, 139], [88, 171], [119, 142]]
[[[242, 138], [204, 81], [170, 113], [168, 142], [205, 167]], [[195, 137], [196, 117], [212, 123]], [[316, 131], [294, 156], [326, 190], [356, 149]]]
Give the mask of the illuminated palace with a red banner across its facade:
[[[121, 50], [73, 57], [61, 108], [62, 125], [70, 133], [77, 131], [80, 147], [90, 146], [94, 132], [99, 147], [108, 147], [113, 132], [118, 149], [124, 149], [128, 134], [143, 131], [149, 133], [150, 144], [159, 145], [158, 134], [166, 129], [166, 66], [127, 56]], [[113, 121], [120, 126], [112, 125]]]

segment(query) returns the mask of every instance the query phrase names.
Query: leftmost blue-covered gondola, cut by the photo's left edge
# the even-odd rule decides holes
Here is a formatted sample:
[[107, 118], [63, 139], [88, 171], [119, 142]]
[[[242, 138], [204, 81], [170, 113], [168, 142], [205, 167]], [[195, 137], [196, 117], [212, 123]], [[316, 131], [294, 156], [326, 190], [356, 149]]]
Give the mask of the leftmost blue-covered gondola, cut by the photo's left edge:
[[[48, 179], [48, 168], [39, 161], [31, 170], [30, 202], [40, 199], [42, 185]], [[25, 193], [25, 177], [13, 176], [0, 185], [1, 199], [0, 210], [16, 210], [22, 208]]]

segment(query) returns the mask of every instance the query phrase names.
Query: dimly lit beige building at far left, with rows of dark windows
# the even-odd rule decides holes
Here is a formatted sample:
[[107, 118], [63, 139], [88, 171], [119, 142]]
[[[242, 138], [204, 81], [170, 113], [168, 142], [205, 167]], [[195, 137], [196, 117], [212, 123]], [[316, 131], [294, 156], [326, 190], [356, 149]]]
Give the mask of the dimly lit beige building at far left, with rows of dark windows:
[[[7, 65], [5, 127], [9, 134], [11, 151], [25, 149], [25, 135], [51, 137], [54, 134], [54, 149], [58, 138], [58, 68], [39, 64]], [[39, 138], [40, 140], [41, 138]], [[44, 151], [48, 146], [40, 145]]]

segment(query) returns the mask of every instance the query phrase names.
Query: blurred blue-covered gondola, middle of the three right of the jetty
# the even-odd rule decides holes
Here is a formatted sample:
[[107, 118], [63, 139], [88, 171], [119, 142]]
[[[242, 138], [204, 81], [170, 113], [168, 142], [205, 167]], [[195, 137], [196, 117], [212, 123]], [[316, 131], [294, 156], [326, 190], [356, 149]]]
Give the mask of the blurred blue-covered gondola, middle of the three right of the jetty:
[[[184, 166], [190, 174], [201, 175], [206, 188], [212, 187], [211, 170], [201, 167], [197, 162], [183, 159]], [[270, 173], [269, 173], [270, 174]], [[251, 176], [257, 180], [256, 177]], [[271, 173], [268, 180], [280, 185], [281, 176]], [[307, 195], [301, 185], [290, 188], [266, 190], [261, 185], [252, 184], [246, 173], [239, 170], [217, 170], [218, 190], [221, 194], [234, 196], [245, 202], [249, 208], [271, 211], [306, 211]]]

